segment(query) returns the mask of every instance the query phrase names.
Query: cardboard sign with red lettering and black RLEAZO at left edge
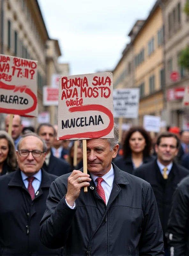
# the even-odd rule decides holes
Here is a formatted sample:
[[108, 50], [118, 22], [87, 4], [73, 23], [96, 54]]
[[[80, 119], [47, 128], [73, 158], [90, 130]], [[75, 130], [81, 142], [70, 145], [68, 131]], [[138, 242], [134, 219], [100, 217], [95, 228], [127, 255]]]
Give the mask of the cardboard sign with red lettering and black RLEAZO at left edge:
[[37, 116], [37, 61], [0, 54], [0, 113]]

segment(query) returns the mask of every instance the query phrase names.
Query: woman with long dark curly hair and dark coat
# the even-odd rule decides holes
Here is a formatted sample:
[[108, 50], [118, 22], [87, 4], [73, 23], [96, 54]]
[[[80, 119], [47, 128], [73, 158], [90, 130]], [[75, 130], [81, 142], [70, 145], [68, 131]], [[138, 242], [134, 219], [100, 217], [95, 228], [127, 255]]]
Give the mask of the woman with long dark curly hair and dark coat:
[[125, 136], [123, 156], [117, 157], [114, 163], [117, 167], [130, 174], [142, 164], [151, 162], [152, 140], [149, 133], [140, 126], [133, 126]]

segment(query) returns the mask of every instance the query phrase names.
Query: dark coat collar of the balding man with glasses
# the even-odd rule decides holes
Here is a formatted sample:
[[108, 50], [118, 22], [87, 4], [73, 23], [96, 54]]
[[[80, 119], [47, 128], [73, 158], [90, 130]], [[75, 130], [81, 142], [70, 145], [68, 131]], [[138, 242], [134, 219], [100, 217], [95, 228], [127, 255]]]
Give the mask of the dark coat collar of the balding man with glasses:
[[[41, 169], [41, 170], [42, 170], [42, 181], [41, 181], [40, 188], [50, 188], [52, 181], [49, 178], [49, 174], [47, 172], [45, 172], [43, 169]], [[16, 171], [14, 173], [14, 176], [12, 177], [12, 179], [10, 180], [8, 185], [9, 186], [17, 186], [17, 187], [25, 187], [24, 182], [22, 180], [20, 169], [18, 169], [18, 171]]]

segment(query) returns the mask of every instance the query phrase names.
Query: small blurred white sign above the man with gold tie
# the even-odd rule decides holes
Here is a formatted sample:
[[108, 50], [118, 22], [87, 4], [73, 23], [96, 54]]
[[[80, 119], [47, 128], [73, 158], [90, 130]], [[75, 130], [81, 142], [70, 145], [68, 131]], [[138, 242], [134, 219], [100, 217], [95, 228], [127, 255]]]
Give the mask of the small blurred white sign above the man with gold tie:
[[144, 116], [143, 127], [147, 132], [160, 132], [161, 117], [160, 116]]

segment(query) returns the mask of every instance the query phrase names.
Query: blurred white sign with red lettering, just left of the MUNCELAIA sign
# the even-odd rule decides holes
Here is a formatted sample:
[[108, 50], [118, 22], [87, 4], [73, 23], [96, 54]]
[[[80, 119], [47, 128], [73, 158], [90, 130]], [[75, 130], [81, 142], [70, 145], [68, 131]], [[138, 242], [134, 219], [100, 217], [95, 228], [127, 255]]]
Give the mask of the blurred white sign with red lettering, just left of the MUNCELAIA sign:
[[58, 87], [43, 86], [43, 106], [58, 106]]

